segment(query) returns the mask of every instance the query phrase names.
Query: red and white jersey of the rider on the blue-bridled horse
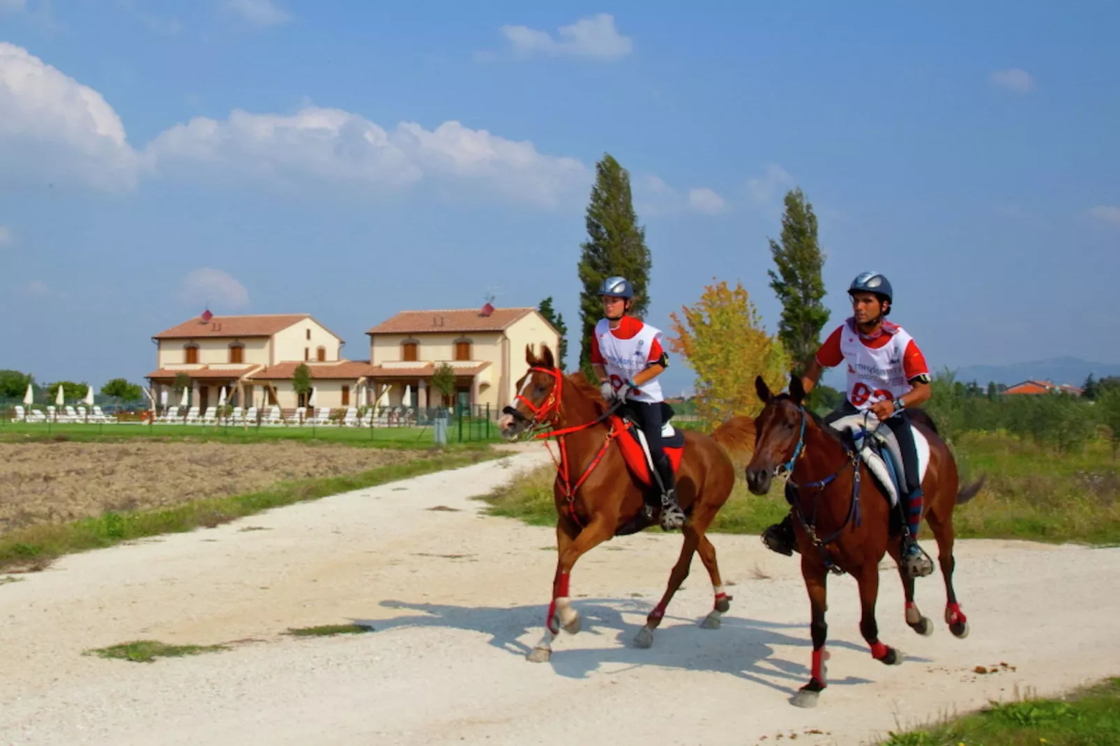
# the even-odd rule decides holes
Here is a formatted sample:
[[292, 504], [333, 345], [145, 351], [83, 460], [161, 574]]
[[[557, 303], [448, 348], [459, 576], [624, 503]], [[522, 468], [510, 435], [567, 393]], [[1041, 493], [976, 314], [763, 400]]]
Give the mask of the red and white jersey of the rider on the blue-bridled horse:
[[877, 336], [866, 338], [849, 318], [821, 345], [816, 362], [824, 367], [847, 363], [848, 401], [857, 409], [897, 399], [909, 392], [911, 381], [930, 374], [913, 337], [890, 321], [883, 323]]

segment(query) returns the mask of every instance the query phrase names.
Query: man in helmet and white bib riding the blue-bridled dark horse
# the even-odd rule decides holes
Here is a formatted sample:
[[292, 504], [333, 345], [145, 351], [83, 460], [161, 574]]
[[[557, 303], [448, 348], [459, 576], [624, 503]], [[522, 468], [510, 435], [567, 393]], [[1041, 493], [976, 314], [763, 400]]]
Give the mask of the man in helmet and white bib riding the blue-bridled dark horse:
[[[837, 327], [810, 362], [802, 385], [812, 390], [825, 367], [848, 364], [848, 391], [840, 409], [824, 418], [828, 423], [841, 417], [870, 410], [894, 433], [903, 456], [902, 482], [905, 494], [900, 507], [906, 517], [903, 532], [903, 561], [911, 577], [933, 572], [933, 562], [917, 545], [922, 523], [922, 483], [917, 449], [906, 411], [925, 403], [932, 393], [930, 369], [917, 344], [903, 327], [885, 317], [890, 313], [894, 292], [890, 282], [877, 272], [864, 272], [848, 289], [852, 317]], [[786, 500], [792, 500], [792, 485]], [[791, 556], [796, 548], [790, 515], [763, 532], [763, 542], [772, 550]]]

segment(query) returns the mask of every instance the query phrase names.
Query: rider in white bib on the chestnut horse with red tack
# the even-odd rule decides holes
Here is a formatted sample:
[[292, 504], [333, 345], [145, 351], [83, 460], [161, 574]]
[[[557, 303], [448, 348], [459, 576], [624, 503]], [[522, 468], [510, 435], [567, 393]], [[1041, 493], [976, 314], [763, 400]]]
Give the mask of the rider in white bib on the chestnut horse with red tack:
[[661, 428], [665, 421], [664, 395], [655, 377], [669, 365], [662, 333], [627, 315], [634, 288], [622, 277], [608, 277], [599, 287], [603, 314], [591, 334], [591, 367], [601, 381], [603, 398], [620, 399], [620, 409], [642, 428], [650, 456], [661, 477], [661, 528], [680, 529], [685, 516], [676, 502], [673, 467], [665, 455]]

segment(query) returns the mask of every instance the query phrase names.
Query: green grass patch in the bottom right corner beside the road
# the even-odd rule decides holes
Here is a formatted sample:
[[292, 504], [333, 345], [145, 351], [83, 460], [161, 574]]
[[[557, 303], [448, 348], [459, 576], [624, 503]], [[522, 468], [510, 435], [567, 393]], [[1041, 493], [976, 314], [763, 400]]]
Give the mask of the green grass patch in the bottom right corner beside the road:
[[884, 746], [1105, 746], [1120, 743], [1120, 679], [1061, 699], [1025, 699], [908, 733]]

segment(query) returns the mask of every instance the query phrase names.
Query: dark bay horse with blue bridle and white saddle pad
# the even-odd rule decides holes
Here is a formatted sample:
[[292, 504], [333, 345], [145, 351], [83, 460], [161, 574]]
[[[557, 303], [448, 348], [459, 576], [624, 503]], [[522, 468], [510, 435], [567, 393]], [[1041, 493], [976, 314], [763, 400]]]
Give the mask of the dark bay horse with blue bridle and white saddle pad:
[[[755, 380], [755, 389], [765, 407], [756, 420], [757, 441], [747, 466], [747, 486], [756, 495], [766, 494], [777, 469], [788, 472], [790, 479], [799, 485], [793, 525], [801, 552], [801, 575], [812, 608], [813, 656], [809, 683], [793, 697], [792, 703], [814, 707], [827, 686], [824, 613], [830, 570], [848, 572], [859, 585], [862, 612], [859, 631], [875, 660], [887, 665], [897, 665], [903, 660], [902, 652], [879, 641], [875, 621], [879, 561], [884, 553], [890, 552], [899, 568], [906, 624], [921, 635], [930, 635], [933, 623], [918, 610], [914, 603], [914, 579], [903, 570], [898, 532], [905, 528], [900, 520], [892, 521], [898, 511], [857, 453], [850, 436], [838, 432], [805, 409], [800, 376], [790, 377], [788, 393], [773, 394], [760, 376]], [[870, 421], [876, 421], [874, 416]], [[915, 417], [912, 423], [930, 444], [928, 467], [922, 479], [922, 511], [937, 540], [945, 580], [945, 623], [954, 636], [963, 638], [969, 625], [953, 590], [953, 509], [971, 500], [983, 478], [961, 489], [956, 461], [949, 446], [925, 417]]]

